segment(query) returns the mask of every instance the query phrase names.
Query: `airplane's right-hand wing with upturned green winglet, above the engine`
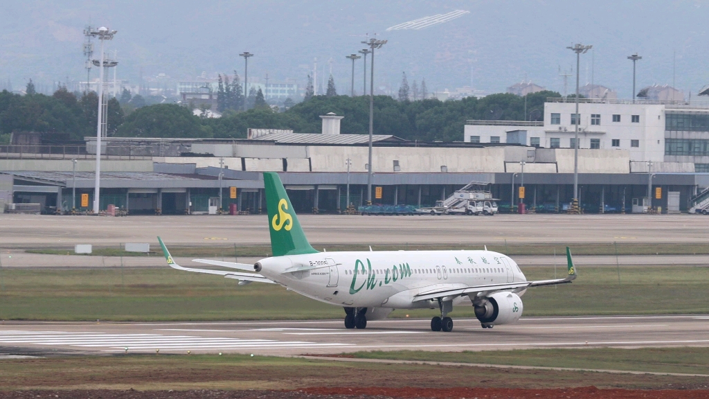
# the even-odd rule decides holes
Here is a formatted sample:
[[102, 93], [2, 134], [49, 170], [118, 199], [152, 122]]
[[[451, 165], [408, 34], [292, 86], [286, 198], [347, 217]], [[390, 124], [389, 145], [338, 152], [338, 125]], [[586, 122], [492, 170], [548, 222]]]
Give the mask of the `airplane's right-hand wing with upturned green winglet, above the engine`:
[[435, 298], [454, 298], [461, 295], [468, 295], [469, 297], [484, 297], [498, 291], [513, 291], [520, 292], [528, 287], [541, 287], [544, 285], [556, 285], [556, 284], [566, 284], [571, 283], [572, 280], [576, 279], [576, 268], [574, 267], [574, 261], [571, 260], [571, 251], [569, 247], [566, 247], [566, 263], [569, 270], [569, 274], [566, 278], [555, 278], [553, 280], [536, 280], [536, 281], [519, 281], [516, 283], [500, 283], [500, 284], [486, 284], [486, 285], [471, 285], [470, 287], [450, 287], [445, 285], [438, 285], [432, 287], [431, 290], [423, 290], [422, 292], [415, 295], [413, 298], [414, 302], [420, 300], [431, 300]]

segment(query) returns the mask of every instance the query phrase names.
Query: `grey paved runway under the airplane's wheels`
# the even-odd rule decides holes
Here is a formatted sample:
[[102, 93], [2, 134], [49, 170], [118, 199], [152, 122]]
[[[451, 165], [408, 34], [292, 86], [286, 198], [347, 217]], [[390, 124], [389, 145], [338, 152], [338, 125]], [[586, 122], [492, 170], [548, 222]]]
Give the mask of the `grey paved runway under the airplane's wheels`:
[[527, 318], [493, 329], [481, 329], [475, 319], [454, 319], [450, 333], [430, 331], [428, 319], [369, 322], [364, 330], [345, 329], [342, 320], [0, 324], [0, 356], [157, 350], [160, 354], [298, 355], [659, 346], [709, 346], [709, 315]]

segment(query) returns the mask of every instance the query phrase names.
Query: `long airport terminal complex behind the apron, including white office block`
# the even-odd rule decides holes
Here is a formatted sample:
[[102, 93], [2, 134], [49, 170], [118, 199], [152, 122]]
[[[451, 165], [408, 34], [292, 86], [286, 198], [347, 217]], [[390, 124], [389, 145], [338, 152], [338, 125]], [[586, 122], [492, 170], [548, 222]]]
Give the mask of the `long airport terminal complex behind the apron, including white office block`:
[[[630, 212], [632, 204], [648, 200], [661, 212], [683, 212], [709, 197], [703, 169], [709, 152], [702, 150], [709, 143], [709, 108], [607, 101], [588, 100], [579, 111], [584, 212]], [[543, 123], [469, 121], [464, 141], [453, 143], [375, 135], [372, 185], [381, 195], [373, 189], [372, 201], [425, 207], [477, 181], [489, 183], [502, 212], [520, 201], [536, 212], [564, 212], [573, 197], [573, 107], [549, 99]], [[263, 171], [281, 173], [298, 212], [342, 211], [347, 187], [350, 204], [366, 203], [369, 137], [340, 133], [341, 116], [321, 118], [321, 133], [249, 129], [245, 139], [106, 138], [101, 209], [113, 204], [131, 214], [210, 214], [221, 205], [263, 212]], [[0, 204], [38, 203], [46, 212], [89, 208], [95, 138], [82, 148], [19, 147], [0, 148]]]

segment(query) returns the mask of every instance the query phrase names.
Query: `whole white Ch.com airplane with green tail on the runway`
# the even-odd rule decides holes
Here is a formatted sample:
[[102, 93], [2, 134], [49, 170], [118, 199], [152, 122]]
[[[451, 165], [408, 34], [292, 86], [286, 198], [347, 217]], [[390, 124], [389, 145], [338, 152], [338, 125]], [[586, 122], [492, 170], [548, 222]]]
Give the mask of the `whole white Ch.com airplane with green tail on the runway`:
[[342, 251], [320, 252], [308, 243], [277, 173], [264, 173], [273, 256], [254, 265], [195, 259], [231, 268], [185, 268], [174, 262], [157, 237], [167, 264], [178, 270], [223, 275], [248, 283], [279, 284], [306, 297], [345, 309], [345, 327], [364, 329], [367, 321], [386, 318], [395, 309], [437, 309], [432, 331], [450, 332], [454, 305], [474, 307], [481, 327], [516, 322], [527, 288], [571, 283], [576, 268], [566, 247], [568, 275], [527, 281], [517, 263], [488, 251]]

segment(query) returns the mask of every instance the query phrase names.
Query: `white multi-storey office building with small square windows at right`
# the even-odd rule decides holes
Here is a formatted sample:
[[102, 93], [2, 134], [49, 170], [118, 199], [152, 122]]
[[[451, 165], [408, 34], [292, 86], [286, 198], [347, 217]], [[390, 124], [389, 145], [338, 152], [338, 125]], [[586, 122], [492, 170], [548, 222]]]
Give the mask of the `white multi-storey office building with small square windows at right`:
[[[464, 141], [574, 148], [575, 107], [550, 98], [543, 122], [467, 121]], [[709, 104], [581, 99], [579, 148], [626, 150], [632, 171], [709, 172]]]

